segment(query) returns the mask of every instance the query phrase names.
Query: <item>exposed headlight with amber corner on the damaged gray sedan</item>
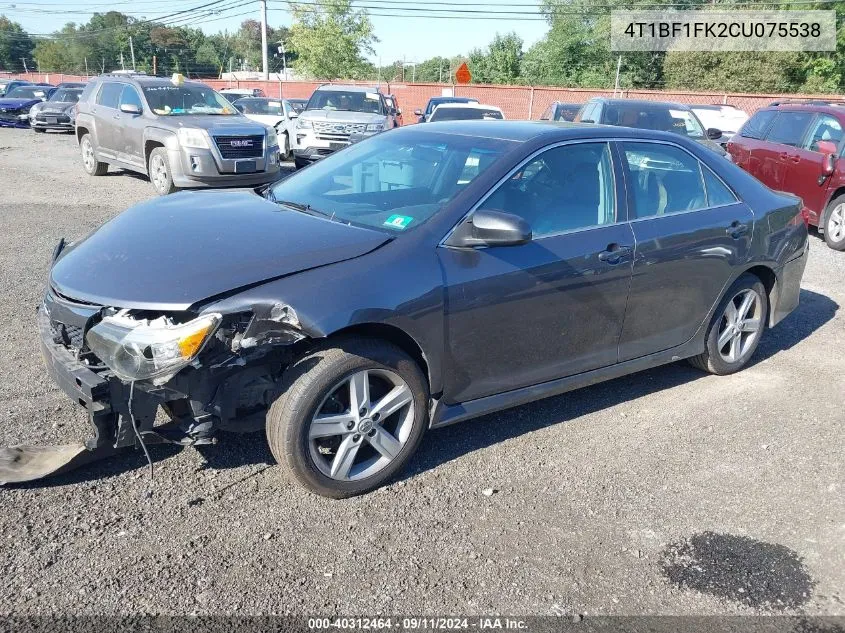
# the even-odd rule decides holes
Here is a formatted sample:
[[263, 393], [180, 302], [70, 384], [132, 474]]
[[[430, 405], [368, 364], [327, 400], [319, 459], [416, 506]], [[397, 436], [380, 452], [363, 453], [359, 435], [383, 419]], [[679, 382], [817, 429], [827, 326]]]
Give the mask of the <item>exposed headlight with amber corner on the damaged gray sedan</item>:
[[221, 318], [206, 314], [175, 324], [165, 317], [141, 321], [116, 314], [91, 328], [85, 342], [122, 380], [162, 384], [196, 358]]

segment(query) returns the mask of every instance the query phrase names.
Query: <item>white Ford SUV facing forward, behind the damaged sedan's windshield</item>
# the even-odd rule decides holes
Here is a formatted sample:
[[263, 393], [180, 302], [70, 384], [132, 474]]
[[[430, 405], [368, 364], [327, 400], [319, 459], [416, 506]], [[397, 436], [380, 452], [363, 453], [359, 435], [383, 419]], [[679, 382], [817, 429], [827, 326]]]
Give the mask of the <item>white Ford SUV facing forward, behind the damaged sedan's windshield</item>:
[[293, 160], [305, 167], [355, 140], [396, 127], [384, 96], [365, 86], [320, 86], [296, 121]]

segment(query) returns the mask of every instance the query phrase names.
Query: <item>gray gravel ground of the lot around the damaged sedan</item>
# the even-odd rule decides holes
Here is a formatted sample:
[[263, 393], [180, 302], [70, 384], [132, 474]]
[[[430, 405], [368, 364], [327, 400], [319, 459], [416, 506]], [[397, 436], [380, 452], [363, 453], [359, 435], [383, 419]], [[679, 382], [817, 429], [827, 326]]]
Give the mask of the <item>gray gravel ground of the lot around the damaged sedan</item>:
[[[0, 130], [0, 444], [72, 442], [35, 308], [50, 253], [152, 197]], [[738, 375], [674, 364], [430, 433], [330, 501], [263, 435], [0, 490], [0, 614], [845, 615], [845, 253]], [[151, 491], [151, 492], [150, 492]]]

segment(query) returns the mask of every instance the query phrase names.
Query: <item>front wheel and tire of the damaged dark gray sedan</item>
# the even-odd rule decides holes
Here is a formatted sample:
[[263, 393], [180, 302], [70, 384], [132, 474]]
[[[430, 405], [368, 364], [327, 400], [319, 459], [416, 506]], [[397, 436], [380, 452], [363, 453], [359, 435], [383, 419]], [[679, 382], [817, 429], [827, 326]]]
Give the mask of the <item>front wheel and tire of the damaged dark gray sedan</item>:
[[389, 481], [428, 426], [428, 383], [385, 341], [328, 341], [287, 369], [267, 414], [273, 457], [311, 492], [342, 499]]

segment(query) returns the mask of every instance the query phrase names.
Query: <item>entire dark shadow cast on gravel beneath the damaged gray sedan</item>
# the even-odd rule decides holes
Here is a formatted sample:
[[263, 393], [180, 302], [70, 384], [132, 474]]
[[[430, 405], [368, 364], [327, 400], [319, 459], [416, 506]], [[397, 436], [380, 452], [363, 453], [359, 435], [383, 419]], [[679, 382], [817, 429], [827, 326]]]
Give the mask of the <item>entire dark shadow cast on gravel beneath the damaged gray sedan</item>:
[[[767, 332], [754, 362], [758, 363], [787, 350], [810, 336], [833, 318], [838, 307], [829, 297], [801, 290], [801, 304], [783, 323]], [[417, 454], [411, 459], [409, 469], [400, 475], [400, 478], [413, 477], [492, 444], [595, 413], [627, 400], [671, 389], [704, 375], [685, 362], [673, 363], [440, 429], [425, 438]], [[172, 457], [182, 450], [182, 447], [160, 444], [150, 446], [149, 449], [155, 463]], [[217, 446], [198, 446], [195, 450], [205, 459], [204, 469], [222, 470], [272, 464], [275, 461], [263, 432], [221, 433]], [[128, 450], [115, 457], [92, 462], [78, 470], [18, 486], [38, 488], [68, 485], [113, 477], [145, 468], [146, 465], [143, 452]]]

